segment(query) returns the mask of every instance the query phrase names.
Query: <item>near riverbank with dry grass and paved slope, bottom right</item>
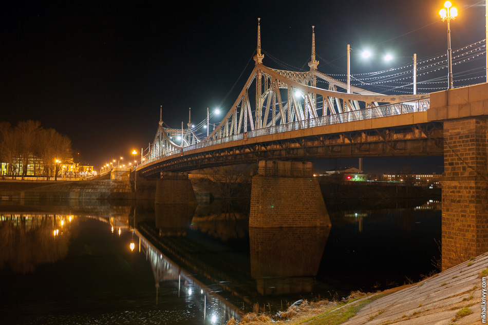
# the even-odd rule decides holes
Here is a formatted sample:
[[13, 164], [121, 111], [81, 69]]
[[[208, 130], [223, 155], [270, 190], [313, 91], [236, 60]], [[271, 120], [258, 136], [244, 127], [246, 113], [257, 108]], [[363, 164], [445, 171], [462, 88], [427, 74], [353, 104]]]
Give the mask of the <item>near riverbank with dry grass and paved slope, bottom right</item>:
[[[488, 276], [487, 265], [485, 253], [418, 283], [361, 298], [353, 293], [340, 302], [297, 303], [273, 317], [250, 313], [239, 324], [261, 324], [271, 319], [287, 325], [480, 324], [485, 285], [482, 277]], [[485, 299], [486, 291], [484, 295]]]

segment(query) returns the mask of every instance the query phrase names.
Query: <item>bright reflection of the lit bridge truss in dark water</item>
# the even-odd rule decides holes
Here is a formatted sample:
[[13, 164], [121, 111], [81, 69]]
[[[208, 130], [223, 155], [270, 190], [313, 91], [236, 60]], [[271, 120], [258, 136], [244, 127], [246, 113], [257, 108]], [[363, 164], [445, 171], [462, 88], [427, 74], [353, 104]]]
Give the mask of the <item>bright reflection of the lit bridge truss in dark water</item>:
[[145, 251], [146, 260], [151, 262], [156, 286], [156, 299], [161, 281], [178, 281], [178, 296], [183, 290], [183, 294], [194, 300], [195, 304], [202, 310], [203, 324], [215, 323], [217, 319], [221, 323], [227, 323], [230, 318], [240, 318], [241, 311], [237, 307], [182, 270], [137, 230], [135, 233], [139, 237], [139, 251], [141, 249]]

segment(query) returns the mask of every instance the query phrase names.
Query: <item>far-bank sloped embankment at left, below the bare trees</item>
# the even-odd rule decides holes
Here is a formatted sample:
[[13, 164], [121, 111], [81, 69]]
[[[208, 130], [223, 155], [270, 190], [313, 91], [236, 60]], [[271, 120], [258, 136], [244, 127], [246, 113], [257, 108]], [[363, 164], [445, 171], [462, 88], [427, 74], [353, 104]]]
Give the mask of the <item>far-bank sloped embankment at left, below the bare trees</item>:
[[114, 199], [134, 198], [134, 189], [129, 180], [96, 180], [57, 182], [25, 189], [22, 184], [15, 188], [9, 184], [2, 188], [0, 196], [7, 199], [59, 200], [59, 199]]

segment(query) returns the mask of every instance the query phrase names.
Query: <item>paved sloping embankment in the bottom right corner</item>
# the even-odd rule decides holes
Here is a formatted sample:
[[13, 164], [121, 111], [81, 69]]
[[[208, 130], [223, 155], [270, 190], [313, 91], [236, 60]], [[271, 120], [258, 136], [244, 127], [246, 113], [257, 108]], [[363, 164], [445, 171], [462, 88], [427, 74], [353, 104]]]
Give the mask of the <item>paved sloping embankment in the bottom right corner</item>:
[[482, 324], [481, 272], [486, 267], [488, 253], [375, 300], [343, 324]]

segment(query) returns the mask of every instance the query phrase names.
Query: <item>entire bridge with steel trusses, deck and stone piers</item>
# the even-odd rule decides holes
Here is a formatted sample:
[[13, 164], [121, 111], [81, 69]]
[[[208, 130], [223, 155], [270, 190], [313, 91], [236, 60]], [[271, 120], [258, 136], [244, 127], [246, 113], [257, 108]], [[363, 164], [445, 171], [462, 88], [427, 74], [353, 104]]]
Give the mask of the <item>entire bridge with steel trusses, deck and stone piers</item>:
[[[174, 172], [258, 162], [251, 226], [323, 226], [330, 220], [306, 161], [444, 155], [443, 267], [488, 251], [488, 84], [430, 95], [389, 96], [355, 87], [346, 93], [344, 83], [317, 70], [313, 32], [308, 72], [264, 66], [259, 24], [257, 36], [255, 67], [207, 137], [198, 137], [191, 119], [180, 130], [164, 128], [160, 117], [137, 167], [141, 177], [161, 178], [159, 203], [184, 203], [182, 192], [176, 194], [184, 186], [168, 183], [176, 181]], [[165, 190], [170, 186], [173, 194]]]

